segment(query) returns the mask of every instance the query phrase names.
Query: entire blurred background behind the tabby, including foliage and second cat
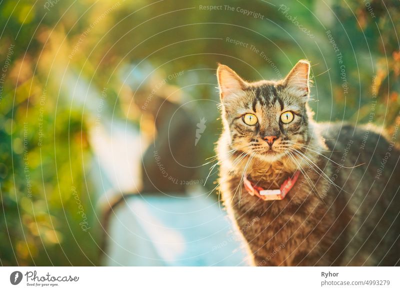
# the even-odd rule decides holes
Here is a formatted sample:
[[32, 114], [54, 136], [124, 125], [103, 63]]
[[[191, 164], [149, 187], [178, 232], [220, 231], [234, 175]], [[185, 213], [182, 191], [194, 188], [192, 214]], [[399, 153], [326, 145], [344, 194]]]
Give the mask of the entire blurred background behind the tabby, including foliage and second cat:
[[309, 59], [316, 120], [390, 132], [399, 19], [397, 0], [1, 0], [0, 264], [102, 264], [106, 193], [218, 204], [218, 62], [256, 80]]

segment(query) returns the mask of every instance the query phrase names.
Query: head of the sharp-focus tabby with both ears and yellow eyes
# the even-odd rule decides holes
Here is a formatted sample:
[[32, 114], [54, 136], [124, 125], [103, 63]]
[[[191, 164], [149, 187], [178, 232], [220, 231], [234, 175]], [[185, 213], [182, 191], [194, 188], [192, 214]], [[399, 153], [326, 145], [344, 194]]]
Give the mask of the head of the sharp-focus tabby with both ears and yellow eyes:
[[274, 161], [307, 141], [309, 68], [300, 60], [282, 80], [247, 82], [219, 64], [222, 119], [232, 149]]

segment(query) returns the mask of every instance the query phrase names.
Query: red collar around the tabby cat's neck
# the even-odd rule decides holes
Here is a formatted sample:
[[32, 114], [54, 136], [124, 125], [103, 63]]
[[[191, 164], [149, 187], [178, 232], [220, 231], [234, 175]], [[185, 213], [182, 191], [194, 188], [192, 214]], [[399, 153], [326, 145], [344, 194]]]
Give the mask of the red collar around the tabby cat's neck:
[[243, 184], [248, 193], [252, 196], [256, 195], [262, 200], [282, 200], [284, 196], [286, 196], [287, 192], [293, 187], [299, 174], [299, 171], [295, 171], [292, 177], [288, 177], [284, 180], [280, 185], [280, 189], [264, 190], [260, 186], [254, 185], [250, 182], [246, 176], [244, 176]]

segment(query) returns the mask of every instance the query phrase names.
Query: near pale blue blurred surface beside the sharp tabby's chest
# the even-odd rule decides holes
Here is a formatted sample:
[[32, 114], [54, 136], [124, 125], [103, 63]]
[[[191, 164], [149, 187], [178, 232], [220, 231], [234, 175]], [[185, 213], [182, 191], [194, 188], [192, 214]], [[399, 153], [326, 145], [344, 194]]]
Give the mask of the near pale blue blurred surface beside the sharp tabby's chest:
[[230, 220], [206, 194], [130, 197], [109, 226], [104, 265], [246, 265]]

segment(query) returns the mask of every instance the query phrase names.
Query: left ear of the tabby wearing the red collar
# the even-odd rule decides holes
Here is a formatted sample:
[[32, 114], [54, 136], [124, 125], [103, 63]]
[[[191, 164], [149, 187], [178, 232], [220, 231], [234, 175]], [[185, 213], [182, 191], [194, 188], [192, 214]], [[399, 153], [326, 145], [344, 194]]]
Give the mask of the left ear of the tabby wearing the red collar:
[[224, 64], [218, 64], [216, 76], [218, 78], [219, 94], [222, 102], [240, 97], [247, 86], [246, 81]]

